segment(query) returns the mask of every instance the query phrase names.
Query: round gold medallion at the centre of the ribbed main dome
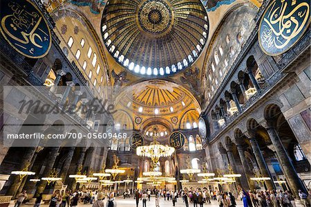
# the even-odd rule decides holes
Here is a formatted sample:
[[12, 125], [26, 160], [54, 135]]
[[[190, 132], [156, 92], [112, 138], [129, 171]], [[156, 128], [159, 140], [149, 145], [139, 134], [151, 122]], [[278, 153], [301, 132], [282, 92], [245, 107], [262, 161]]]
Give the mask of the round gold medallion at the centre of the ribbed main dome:
[[146, 1], [138, 11], [138, 21], [145, 32], [161, 34], [171, 25], [172, 12], [164, 1]]

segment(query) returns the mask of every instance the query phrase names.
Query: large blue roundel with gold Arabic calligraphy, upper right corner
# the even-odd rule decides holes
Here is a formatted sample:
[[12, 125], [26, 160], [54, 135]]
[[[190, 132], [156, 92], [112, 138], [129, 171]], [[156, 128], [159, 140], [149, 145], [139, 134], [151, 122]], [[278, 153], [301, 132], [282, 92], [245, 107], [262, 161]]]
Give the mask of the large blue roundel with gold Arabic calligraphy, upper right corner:
[[267, 7], [259, 28], [261, 48], [268, 55], [288, 51], [310, 24], [310, 1], [274, 0]]

